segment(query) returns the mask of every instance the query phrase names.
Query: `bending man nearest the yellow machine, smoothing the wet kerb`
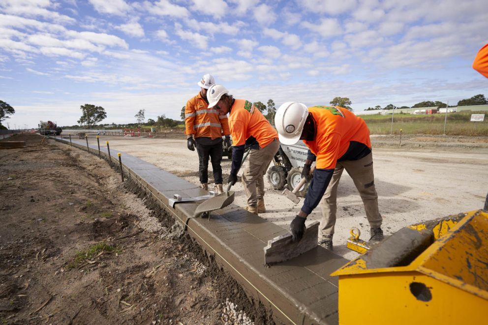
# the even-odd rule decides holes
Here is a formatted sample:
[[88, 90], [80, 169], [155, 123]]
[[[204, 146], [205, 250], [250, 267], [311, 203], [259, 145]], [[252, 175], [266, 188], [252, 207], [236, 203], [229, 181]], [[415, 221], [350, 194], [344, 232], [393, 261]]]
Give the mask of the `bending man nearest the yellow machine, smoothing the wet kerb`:
[[382, 218], [374, 187], [371, 142], [365, 121], [341, 107], [307, 108], [305, 104], [286, 102], [278, 108], [274, 122], [281, 143], [294, 145], [298, 140], [303, 140], [308, 147], [302, 173], [308, 180], [310, 165], [316, 160], [316, 169], [311, 177], [304, 205], [290, 224], [293, 240], [302, 239], [305, 219], [322, 199], [322, 240], [319, 244], [332, 250], [337, 185], [344, 169], [353, 179], [363, 199], [371, 227], [370, 242], [383, 240]]

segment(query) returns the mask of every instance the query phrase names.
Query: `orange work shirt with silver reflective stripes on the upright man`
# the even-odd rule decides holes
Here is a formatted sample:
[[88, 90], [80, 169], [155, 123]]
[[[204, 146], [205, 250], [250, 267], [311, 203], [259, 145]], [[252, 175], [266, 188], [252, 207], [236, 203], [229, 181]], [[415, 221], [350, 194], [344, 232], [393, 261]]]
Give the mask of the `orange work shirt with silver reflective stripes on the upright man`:
[[188, 100], [184, 108], [185, 133], [211, 139], [229, 135], [227, 116], [219, 116], [217, 110], [208, 105], [200, 92]]

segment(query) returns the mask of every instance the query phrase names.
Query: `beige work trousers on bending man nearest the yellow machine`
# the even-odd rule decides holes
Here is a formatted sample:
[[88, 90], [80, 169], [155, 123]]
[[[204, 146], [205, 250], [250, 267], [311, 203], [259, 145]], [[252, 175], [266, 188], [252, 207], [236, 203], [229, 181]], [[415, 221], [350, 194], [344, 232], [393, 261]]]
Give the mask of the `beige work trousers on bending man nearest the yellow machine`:
[[337, 185], [342, 172], [346, 170], [359, 191], [371, 228], [381, 227], [383, 218], [378, 211], [378, 194], [374, 187], [373, 155], [369, 153], [359, 160], [338, 161], [331, 182], [322, 197], [322, 236], [334, 235], [337, 211]]

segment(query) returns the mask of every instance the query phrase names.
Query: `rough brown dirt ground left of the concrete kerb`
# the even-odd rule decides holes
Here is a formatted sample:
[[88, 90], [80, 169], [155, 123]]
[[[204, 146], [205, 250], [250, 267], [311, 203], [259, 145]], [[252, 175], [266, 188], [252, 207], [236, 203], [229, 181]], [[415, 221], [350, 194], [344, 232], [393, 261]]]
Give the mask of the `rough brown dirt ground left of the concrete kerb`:
[[0, 151], [1, 323], [223, 324], [233, 280], [106, 161], [42, 139]]

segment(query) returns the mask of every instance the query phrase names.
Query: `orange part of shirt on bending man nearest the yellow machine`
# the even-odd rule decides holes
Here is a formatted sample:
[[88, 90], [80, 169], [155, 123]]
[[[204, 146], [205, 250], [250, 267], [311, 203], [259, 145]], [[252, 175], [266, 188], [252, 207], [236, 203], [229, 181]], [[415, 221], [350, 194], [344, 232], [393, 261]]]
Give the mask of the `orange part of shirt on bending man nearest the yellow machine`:
[[312, 106], [308, 113], [315, 120], [315, 140], [305, 145], [317, 157], [316, 168], [335, 169], [350, 141], [360, 142], [371, 148], [366, 122], [351, 111], [335, 106]]

